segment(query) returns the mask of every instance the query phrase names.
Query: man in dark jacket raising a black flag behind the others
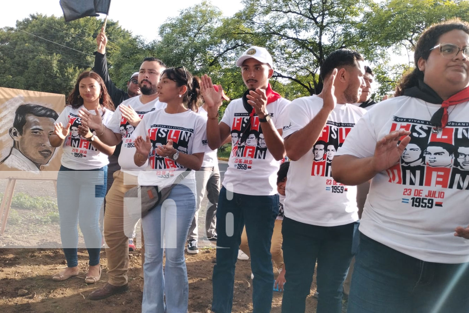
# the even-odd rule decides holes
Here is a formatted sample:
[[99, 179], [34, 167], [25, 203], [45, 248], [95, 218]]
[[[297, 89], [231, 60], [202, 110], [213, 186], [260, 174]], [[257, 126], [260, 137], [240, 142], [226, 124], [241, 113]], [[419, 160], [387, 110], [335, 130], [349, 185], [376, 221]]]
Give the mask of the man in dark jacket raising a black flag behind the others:
[[[141, 95], [142, 92], [140, 91], [140, 87], [138, 86], [138, 72], [133, 73], [130, 76], [129, 81], [127, 81], [127, 92], [120, 88], [117, 88], [116, 85], [111, 80], [111, 77], [109, 77], [109, 72], [107, 71], [107, 60], [106, 60], [107, 37], [106, 37], [106, 34], [104, 33], [104, 28], [101, 28], [101, 32], [98, 34], [98, 36], [96, 36], [96, 44], [98, 48], [97, 48], [97, 51], [94, 53], [93, 71], [96, 72], [99, 76], [101, 76], [104, 83], [106, 84], [107, 93], [109, 93], [109, 95], [111, 96], [111, 99], [113, 99], [114, 107], [117, 108], [117, 106], [119, 106], [124, 100]], [[114, 153], [109, 156], [109, 165], [107, 166], [106, 193], [109, 191], [109, 189], [111, 188], [113, 184], [114, 172], [121, 168], [118, 163], [119, 153], [121, 153], [121, 146], [122, 144], [116, 145]], [[106, 200], [104, 200], [104, 206], [106, 207]], [[101, 225], [100, 227], [102, 230], [102, 224], [103, 224], [102, 215], [99, 219], [99, 224]], [[136, 249], [135, 243], [134, 243], [134, 237], [135, 237], [135, 229], [134, 229], [134, 233], [132, 237], [129, 238], [129, 251], [134, 251]], [[142, 272], [141, 277], [143, 279], [143, 272]]]

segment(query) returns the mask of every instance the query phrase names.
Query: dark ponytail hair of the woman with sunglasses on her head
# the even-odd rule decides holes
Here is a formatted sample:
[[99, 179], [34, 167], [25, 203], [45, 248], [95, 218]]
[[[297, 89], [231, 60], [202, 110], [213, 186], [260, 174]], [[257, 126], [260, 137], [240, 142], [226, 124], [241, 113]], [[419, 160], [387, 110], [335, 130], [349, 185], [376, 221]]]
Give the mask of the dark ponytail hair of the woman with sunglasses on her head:
[[200, 94], [200, 78], [192, 76], [192, 74], [184, 67], [165, 69], [161, 76], [166, 75], [168, 79], [176, 82], [178, 87], [187, 86], [187, 92], [184, 93], [182, 103], [194, 111], [198, 111], [198, 107], [202, 103], [202, 95]]

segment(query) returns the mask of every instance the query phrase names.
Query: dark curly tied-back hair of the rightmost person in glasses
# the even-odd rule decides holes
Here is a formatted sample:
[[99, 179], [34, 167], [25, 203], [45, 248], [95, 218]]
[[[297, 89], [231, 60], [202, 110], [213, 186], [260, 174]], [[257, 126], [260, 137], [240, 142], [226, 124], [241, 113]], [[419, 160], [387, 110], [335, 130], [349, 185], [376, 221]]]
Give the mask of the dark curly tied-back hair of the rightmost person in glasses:
[[394, 97], [402, 96], [404, 94], [404, 89], [418, 86], [418, 80], [424, 79], [424, 72], [418, 69], [418, 60], [420, 58], [427, 60], [431, 52], [430, 49], [437, 45], [441, 35], [453, 30], [460, 30], [469, 34], [469, 23], [455, 18], [446, 22], [433, 24], [422, 33], [415, 46], [415, 69], [402, 76], [399, 84], [396, 86]]

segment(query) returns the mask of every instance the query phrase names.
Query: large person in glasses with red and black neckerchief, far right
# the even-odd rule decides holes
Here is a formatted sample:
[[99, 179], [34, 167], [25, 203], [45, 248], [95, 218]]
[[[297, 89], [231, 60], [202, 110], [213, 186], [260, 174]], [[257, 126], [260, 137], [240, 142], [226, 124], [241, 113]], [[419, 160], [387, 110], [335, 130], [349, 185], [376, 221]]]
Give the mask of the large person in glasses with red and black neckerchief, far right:
[[[337, 182], [371, 179], [348, 313], [468, 312], [469, 174], [455, 164], [469, 144], [468, 58], [469, 23], [425, 30], [396, 97], [371, 108], [333, 159]], [[412, 148], [425, 163], [404, 178]]]

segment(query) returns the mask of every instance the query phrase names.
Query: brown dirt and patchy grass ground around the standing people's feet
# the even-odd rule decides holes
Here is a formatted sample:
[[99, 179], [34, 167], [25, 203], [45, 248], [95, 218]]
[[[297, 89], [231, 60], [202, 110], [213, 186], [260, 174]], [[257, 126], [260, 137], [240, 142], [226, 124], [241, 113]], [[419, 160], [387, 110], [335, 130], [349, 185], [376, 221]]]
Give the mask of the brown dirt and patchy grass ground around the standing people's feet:
[[[6, 180], [0, 179], [0, 192], [5, 191]], [[18, 181], [15, 193], [24, 192], [31, 197], [55, 197], [52, 182]], [[206, 205], [203, 203], [203, 209]], [[202, 209], [202, 210], [203, 210]], [[78, 253], [81, 275], [63, 282], [55, 282], [52, 275], [66, 267], [60, 248], [60, 232], [54, 212], [31, 212], [15, 210], [15, 224], [7, 223], [5, 234], [0, 236], [0, 312], [2, 313], [55, 313], [55, 312], [99, 312], [137, 313], [141, 311], [142, 292], [139, 290], [141, 252], [129, 252], [129, 291], [107, 299], [91, 301], [86, 297], [96, 287], [107, 281], [106, 252], [101, 252], [103, 268], [101, 281], [87, 285], [84, 276], [87, 272], [88, 254], [85, 249]], [[43, 214], [51, 216], [44, 219]], [[205, 214], [199, 214], [199, 225], [203, 227]], [[13, 220], [12, 220], [13, 221]], [[20, 222], [18, 222], [20, 221]], [[139, 230], [139, 229], [138, 229]], [[203, 233], [203, 231], [199, 231]], [[140, 237], [139, 234], [136, 236]], [[137, 244], [139, 240], [137, 240]], [[211, 312], [212, 269], [215, 262], [215, 245], [205, 241], [204, 249], [198, 254], [186, 252], [189, 276], [189, 313]], [[274, 268], [275, 272], [275, 268]], [[233, 312], [252, 311], [252, 281], [250, 261], [238, 260], [234, 282]], [[311, 285], [311, 294], [306, 301], [306, 312], [316, 312], [316, 298], [312, 294], [316, 284]], [[272, 313], [280, 313], [282, 293], [274, 291]]]

